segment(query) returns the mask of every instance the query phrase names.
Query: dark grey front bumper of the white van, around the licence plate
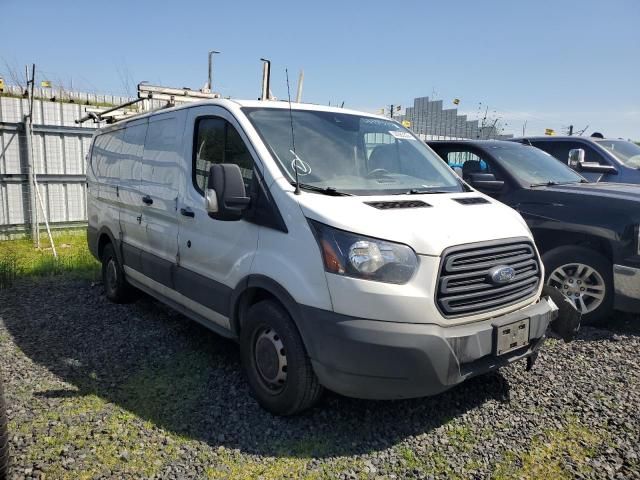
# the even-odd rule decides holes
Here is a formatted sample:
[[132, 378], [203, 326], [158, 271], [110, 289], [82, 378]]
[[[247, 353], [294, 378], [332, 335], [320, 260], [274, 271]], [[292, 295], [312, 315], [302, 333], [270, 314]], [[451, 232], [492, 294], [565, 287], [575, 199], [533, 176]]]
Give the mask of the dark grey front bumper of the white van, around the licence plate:
[[[539, 302], [470, 325], [440, 327], [357, 319], [304, 307], [301, 333], [320, 383], [342, 395], [399, 399], [435, 395], [534, 354], [557, 316]], [[529, 318], [529, 344], [494, 355], [494, 328]]]

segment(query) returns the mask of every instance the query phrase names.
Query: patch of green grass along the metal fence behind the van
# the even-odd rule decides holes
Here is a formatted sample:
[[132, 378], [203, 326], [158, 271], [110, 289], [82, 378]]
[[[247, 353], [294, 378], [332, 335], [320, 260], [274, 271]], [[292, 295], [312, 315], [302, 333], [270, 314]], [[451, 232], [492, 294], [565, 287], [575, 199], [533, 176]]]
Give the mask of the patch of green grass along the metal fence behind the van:
[[0, 241], [0, 289], [10, 287], [16, 278], [70, 274], [78, 278], [97, 280], [100, 264], [87, 247], [84, 229], [53, 233], [58, 258], [46, 235], [40, 239], [40, 249], [30, 238]]

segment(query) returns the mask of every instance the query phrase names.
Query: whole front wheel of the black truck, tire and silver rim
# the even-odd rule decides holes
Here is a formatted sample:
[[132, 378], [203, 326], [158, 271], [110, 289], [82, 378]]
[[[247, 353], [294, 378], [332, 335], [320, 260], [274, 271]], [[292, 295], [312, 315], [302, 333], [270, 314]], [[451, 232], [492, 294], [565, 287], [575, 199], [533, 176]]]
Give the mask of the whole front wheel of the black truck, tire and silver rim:
[[564, 246], [542, 256], [547, 285], [560, 290], [582, 313], [582, 324], [595, 325], [613, 312], [611, 262], [595, 250]]

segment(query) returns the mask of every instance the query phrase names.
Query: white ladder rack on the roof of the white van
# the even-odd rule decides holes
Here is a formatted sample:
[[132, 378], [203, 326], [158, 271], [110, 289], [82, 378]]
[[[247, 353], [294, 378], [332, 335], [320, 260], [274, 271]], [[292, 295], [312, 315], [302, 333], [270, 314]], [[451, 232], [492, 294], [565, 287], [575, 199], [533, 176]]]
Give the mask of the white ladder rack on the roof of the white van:
[[[125, 118], [132, 118], [137, 115], [161, 110], [175, 106], [177, 103], [190, 103], [201, 102], [203, 100], [213, 100], [220, 98], [219, 93], [204, 92], [199, 90], [191, 90], [190, 88], [173, 88], [173, 87], [161, 87], [157, 85], [149, 85], [147, 83], [138, 84], [138, 98], [130, 100], [121, 105], [115, 107], [101, 109], [99, 107], [86, 107], [85, 112], [87, 114], [75, 120], [75, 123], [84, 123], [88, 120], [93, 120], [94, 123], [107, 122], [115, 123]], [[151, 101], [157, 100], [160, 102], [166, 102], [156, 108], [143, 108], [142, 110], [125, 110], [126, 107], [131, 107], [140, 102], [147, 100], [147, 104], [151, 104]]]

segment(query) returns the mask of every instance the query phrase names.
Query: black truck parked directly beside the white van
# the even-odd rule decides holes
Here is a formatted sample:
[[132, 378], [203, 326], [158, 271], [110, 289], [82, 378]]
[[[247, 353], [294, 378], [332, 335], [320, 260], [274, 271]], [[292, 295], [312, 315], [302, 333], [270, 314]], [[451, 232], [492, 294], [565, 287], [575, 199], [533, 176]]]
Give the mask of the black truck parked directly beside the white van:
[[520, 212], [545, 281], [574, 303], [583, 323], [607, 318], [614, 307], [640, 312], [640, 187], [590, 183], [542, 150], [513, 142], [428, 144], [468, 184]]

